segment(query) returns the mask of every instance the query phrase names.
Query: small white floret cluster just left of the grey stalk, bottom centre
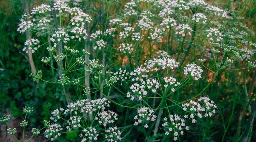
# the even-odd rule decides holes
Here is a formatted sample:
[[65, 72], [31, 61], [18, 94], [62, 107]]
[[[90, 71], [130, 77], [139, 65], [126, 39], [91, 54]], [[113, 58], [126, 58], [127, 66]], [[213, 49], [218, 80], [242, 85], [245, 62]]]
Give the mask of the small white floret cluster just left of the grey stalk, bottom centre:
[[155, 121], [156, 115], [153, 114], [154, 110], [147, 108], [147, 107], [141, 107], [137, 110], [137, 115], [134, 116], [135, 122], [134, 125], [138, 125], [139, 123], [144, 124], [144, 128], [148, 128], [148, 121]]

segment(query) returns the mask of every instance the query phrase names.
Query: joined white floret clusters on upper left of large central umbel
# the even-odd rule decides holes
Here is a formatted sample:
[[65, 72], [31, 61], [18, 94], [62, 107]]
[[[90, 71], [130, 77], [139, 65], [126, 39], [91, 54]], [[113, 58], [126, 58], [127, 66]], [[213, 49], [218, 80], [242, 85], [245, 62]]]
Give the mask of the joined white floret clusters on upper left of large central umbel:
[[[133, 100], [141, 101], [144, 96], [148, 94], [156, 93], [160, 87], [159, 78], [152, 77], [152, 73], [165, 69], [174, 69], [178, 67], [178, 62], [170, 58], [170, 56], [164, 52], [159, 51], [157, 58], [149, 59], [145, 62], [144, 66], [140, 65], [130, 73], [132, 84], [129, 86], [131, 91], [126, 93], [126, 96]], [[180, 85], [180, 83], [173, 77], [165, 76], [160, 77], [160, 80], [165, 81], [164, 87], [175, 91], [174, 87]], [[168, 88], [171, 86], [170, 88]]]

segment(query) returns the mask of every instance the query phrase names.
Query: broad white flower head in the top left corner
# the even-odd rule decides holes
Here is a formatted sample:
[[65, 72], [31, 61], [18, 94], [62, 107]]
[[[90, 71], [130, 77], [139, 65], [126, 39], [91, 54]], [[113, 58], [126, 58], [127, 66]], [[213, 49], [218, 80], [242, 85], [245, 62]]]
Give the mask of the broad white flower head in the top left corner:
[[[52, 13], [50, 11], [55, 10], [57, 17], [69, 18], [70, 25], [66, 27], [57, 28], [56, 25], [53, 25]], [[70, 17], [68, 16], [70, 15]], [[22, 16], [23, 19], [20, 20], [20, 24], [18, 25], [18, 31], [21, 33], [31, 28], [36, 32], [36, 35], [44, 35], [50, 34], [50, 40], [52, 42], [60, 42], [63, 41], [67, 43], [70, 39], [77, 38], [79, 41], [81, 39], [86, 39], [88, 34], [85, 30], [85, 22], [90, 23], [92, 20], [91, 16], [87, 13], [84, 13], [82, 9], [76, 7], [69, 7], [68, 4], [62, 0], [57, 0], [53, 3], [53, 7], [47, 4], [41, 4], [40, 6], [34, 7], [31, 11], [31, 16], [28, 14], [24, 14]], [[30, 20], [32, 18], [32, 20]], [[60, 19], [60, 25], [61, 25]], [[58, 24], [58, 23], [55, 23]], [[56, 27], [56, 28], [52, 28]], [[35, 29], [35, 30], [34, 30]], [[68, 35], [68, 34], [73, 35]], [[26, 43], [25, 43], [26, 44]], [[28, 52], [28, 49], [24, 49], [24, 51]], [[35, 50], [32, 50], [34, 52]]]

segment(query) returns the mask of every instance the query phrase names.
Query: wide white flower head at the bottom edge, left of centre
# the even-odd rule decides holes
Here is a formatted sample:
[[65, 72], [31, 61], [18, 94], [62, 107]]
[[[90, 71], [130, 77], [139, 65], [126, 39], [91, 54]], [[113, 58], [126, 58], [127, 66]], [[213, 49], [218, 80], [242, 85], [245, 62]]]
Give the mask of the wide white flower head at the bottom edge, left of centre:
[[[107, 98], [100, 98], [91, 101], [84, 99], [77, 100], [74, 103], [69, 103], [66, 109], [59, 108], [52, 111], [52, 117], [50, 119], [54, 123], [50, 124], [49, 122], [45, 124], [45, 137], [50, 138], [53, 141], [60, 136], [61, 131], [65, 131], [65, 128], [68, 131], [77, 131], [82, 129], [79, 135], [82, 138], [81, 141], [96, 141], [98, 140], [99, 134], [103, 134], [99, 132], [100, 129], [105, 129], [107, 134], [103, 134], [103, 136], [107, 141], [121, 140], [121, 131], [118, 130], [117, 127], [107, 127], [108, 124], [112, 124], [118, 119], [117, 114], [111, 110], [100, 111], [104, 110], [105, 107], [109, 107], [109, 103], [110, 101], [108, 101]], [[89, 116], [89, 114], [92, 113], [95, 115], [95, 118], [91, 122], [92, 124], [88, 127], [84, 127], [84, 119], [82, 119], [82, 116]], [[66, 123], [63, 123], [65, 127], [62, 127], [58, 123], [58, 120], [65, 120], [66, 116], [69, 116], [69, 119]]]

